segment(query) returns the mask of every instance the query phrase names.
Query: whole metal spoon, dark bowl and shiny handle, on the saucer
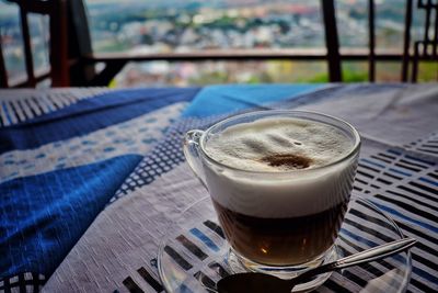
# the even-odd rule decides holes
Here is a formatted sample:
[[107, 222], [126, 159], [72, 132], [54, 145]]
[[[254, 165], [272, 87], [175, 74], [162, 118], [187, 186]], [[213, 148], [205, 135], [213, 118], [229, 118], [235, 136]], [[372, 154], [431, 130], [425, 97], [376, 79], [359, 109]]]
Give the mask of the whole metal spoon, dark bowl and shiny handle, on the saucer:
[[408, 249], [410, 247], [415, 245], [416, 241], [416, 239], [404, 238], [381, 246], [377, 246], [361, 252], [338, 259], [336, 261], [323, 264], [321, 267], [311, 269], [290, 280], [283, 280], [277, 277], [260, 272], [231, 274], [221, 279], [218, 282], [217, 288], [219, 293], [290, 293], [295, 285], [304, 281], [309, 281], [314, 275], [387, 258]]

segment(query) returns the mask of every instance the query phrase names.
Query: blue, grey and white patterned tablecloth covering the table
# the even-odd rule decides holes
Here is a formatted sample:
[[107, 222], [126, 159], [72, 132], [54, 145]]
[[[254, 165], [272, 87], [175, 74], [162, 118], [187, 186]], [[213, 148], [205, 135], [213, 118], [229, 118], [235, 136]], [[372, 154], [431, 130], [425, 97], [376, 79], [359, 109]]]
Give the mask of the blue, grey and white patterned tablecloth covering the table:
[[206, 194], [181, 135], [256, 109], [353, 123], [353, 196], [420, 239], [408, 290], [438, 290], [436, 84], [1, 90], [0, 102], [0, 291], [160, 292], [165, 227]]

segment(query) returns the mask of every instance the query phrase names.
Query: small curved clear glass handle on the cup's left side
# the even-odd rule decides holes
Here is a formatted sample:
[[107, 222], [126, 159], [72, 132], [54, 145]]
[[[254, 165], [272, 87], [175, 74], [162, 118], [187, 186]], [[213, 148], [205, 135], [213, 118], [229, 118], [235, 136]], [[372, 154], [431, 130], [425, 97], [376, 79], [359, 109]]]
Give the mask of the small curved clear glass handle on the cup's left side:
[[203, 136], [204, 132], [194, 129], [189, 131], [184, 136], [184, 156], [191, 166], [193, 172], [200, 180], [200, 182], [207, 188], [205, 174], [203, 172], [203, 162], [201, 157], [199, 155], [199, 139]]

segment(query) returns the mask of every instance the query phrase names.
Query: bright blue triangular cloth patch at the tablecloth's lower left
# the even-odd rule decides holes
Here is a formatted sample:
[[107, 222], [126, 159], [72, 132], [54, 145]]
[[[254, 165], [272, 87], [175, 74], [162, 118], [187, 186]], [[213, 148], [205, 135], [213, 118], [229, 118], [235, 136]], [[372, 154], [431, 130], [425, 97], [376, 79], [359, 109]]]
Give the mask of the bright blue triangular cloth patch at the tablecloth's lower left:
[[0, 184], [0, 279], [50, 275], [140, 159], [126, 155]]

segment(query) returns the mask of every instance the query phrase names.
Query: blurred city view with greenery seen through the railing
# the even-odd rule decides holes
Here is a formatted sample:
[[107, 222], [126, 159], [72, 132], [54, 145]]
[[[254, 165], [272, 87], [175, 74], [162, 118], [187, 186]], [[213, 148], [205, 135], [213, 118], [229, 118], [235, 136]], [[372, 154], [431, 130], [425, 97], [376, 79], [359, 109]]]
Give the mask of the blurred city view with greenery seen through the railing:
[[[94, 53], [129, 54], [230, 48], [323, 48], [316, 0], [85, 0]], [[343, 48], [368, 44], [367, 0], [337, 0]], [[377, 49], [402, 52], [405, 1], [376, 1]], [[413, 37], [424, 15], [414, 15]], [[35, 68], [48, 66], [47, 19], [31, 15]], [[11, 79], [25, 72], [19, 10], [0, 0], [0, 36]], [[401, 63], [377, 64], [377, 80], [399, 81]], [[129, 64], [112, 87], [191, 86], [229, 82], [325, 82], [325, 61], [149, 61]], [[345, 81], [366, 81], [367, 63], [343, 63]], [[437, 79], [438, 66], [419, 66], [418, 81]]]

